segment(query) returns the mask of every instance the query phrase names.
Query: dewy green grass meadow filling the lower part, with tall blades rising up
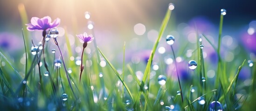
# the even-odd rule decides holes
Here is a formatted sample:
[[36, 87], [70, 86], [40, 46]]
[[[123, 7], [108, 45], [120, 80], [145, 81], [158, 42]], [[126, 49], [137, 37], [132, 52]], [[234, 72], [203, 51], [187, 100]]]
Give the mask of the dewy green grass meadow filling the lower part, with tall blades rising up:
[[[19, 11], [25, 29], [25, 24], [28, 22], [25, 7], [19, 6]], [[29, 51], [29, 47], [32, 46], [32, 43], [29, 42], [30, 36], [28, 31], [23, 30], [25, 68], [21, 63], [14, 62], [14, 59], [0, 48], [0, 63], [6, 63], [0, 65], [0, 102], [2, 103], [0, 107], [2, 110], [48, 111], [207, 111], [211, 102], [219, 101], [222, 110], [252, 110], [254, 107], [252, 103], [256, 99], [256, 65], [250, 68], [251, 74], [253, 74], [250, 79], [251, 85], [245, 86], [243, 85], [244, 81], [239, 80], [239, 74], [245, 67], [247, 58], [240, 56], [239, 58], [242, 59], [234, 60], [234, 62], [222, 60], [220, 50], [222, 25], [224, 24], [223, 15], [220, 20], [217, 47], [207, 36], [201, 35], [201, 39], [205, 39], [214, 49], [218, 57], [217, 64], [210, 63], [206, 61], [207, 58], [203, 57], [205, 49], [200, 48], [200, 45], [204, 43], [199, 42], [200, 36], [197, 34], [197, 43], [187, 43], [185, 46], [181, 43], [178, 45], [180, 46], [180, 49], [177, 48], [178, 52], [173, 50], [173, 46], [172, 50], [167, 50], [167, 53], [172, 54], [171, 57], [178, 55], [183, 57], [184, 61], [196, 60], [198, 62], [194, 71], [188, 70], [187, 65], [184, 66], [187, 72], [192, 74], [192, 78], [184, 80], [179, 77], [182, 74], [178, 72], [179, 79], [167, 75], [170, 72], [166, 69], [173, 64], [166, 64], [161, 57], [157, 56], [156, 51], [161, 43], [161, 38], [165, 32], [168, 32], [166, 27], [169, 25], [171, 13], [172, 10], [166, 11], [151, 54], [147, 55], [149, 56], [148, 61], [146, 64], [141, 63], [142, 66], [126, 62], [126, 43], [123, 46], [122, 60], [108, 59], [104, 48], [97, 46], [97, 37], [95, 37], [93, 44], [88, 44], [92, 50], [91, 53], [83, 54], [83, 58], [81, 58], [82, 64], [84, 64], [81, 82], [79, 73], [82, 65], [76, 65], [76, 61], [70, 60], [71, 57], [80, 54], [72, 52], [68, 32], [65, 33], [67, 55], [62, 55], [63, 46], [58, 45], [58, 38], [55, 39], [62, 61], [61, 67], [55, 67], [55, 54], [49, 53], [51, 49], [49, 49], [48, 42], [43, 40], [42, 46], [45, 48], [38, 50], [39, 53], [35, 56], [31, 55]], [[78, 41], [77, 38], [75, 39]], [[186, 41], [186, 39], [184, 40]], [[174, 44], [178, 44], [178, 42], [175, 41]], [[82, 46], [82, 43], [75, 45]], [[194, 48], [194, 46], [193, 56], [183, 56], [188, 47]], [[157, 57], [159, 57], [159, 61], [156, 61]], [[176, 64], [176, 57], [174, 56], [173, 59]], [[100, 65], [102, 61], [106, 62], [106, 66]], [[118, 61], [122, 63], [118, 64]], [[152, 70], [153, 62], [161, 64], [158, 70]], [[216, 67], [214, 69], [216, 76], [209, 78], [207, 71], [213, 66]], [[178, 71], [181, 66], [175, 65], [174, 67], [173, 70]], [[48, 71], [48, 76], [44, 75], [46, 71]], [[141, 80], [138, 77], [138, 71], [144, 71]], [[173, 74], [176, 75], [176, 72]], [[159, 75], [166, 75], [165, 85], [158, 84], [157, 77]], [[206, 81], [202, 81], [202, 77], [205, 77]], [[177, 94], [177, 91], [180, 91], [180, 94]], [[241, 91], [246, 93], [241, 93]], [[215, 110], [217, 109], [215, 108]]]

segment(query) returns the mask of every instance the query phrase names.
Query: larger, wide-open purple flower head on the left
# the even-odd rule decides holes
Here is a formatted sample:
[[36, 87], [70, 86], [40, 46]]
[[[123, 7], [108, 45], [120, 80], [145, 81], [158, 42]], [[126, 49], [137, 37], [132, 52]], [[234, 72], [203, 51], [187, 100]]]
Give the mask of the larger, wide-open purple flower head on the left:
[[55, 19], [53, 23], [51, 23], [52, 19], [49, 16], [45, 16], [41, 19], [37, 17], [31, 18], [31, 23], [26, 24], [28, 27], [28, 31], [35, 31], [35, 30], [43, 30], [46, 31], [48, 29], [54, 28], [58, 26], [61, 22], [59, 18]]

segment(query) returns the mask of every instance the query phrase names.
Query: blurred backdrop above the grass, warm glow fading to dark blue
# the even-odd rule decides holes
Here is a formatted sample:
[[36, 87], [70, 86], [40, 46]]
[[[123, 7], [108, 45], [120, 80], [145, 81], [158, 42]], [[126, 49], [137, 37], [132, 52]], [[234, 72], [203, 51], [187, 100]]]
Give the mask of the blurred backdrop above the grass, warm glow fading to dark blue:
[[[60, 18], [60, 33], [66, 29], [71, 41], [72, 37], [86, 31], [97, 37], [97, 44], [110, 54], [112, 50], [121, 52], [124, 42], [127, 42], [128, 50], [151, 49], [169, 3], [173, 3], [175, 9], [164, 36], [174, 35], [177, 44], [184, 39], [195, 43], [196, 32], [206, 34], [216, 44], [220, 10], [225, 8], [227, 15], [224, 17], [222, 36], [223, 44], [228, 45], [223, 47], [236, 50], [235, 54], [240, 53], [241, 48], [248, 49], [244, 55], [247, 57], [250, 52], [256, 52], [256, 46], [252, 44], [256, 42], [256, 22], [253, 21], [256, 19], [256, 2], [252, 0], [0, 0], [0, 39], [8, 41], [7, 35], [11, 34], [8, 39], [22, 40], [18, 6], [24, 5], [28, 21], [32, 17], [50, 16], [52, 20]], [[89, 20], [84, 17], [87, 11], [90, 12], [94, 32], [87, 27]], [[42, 32], [29, 33], [37, 42], [42, 39], [37, 37]], [[179, 40], [179, 37], [182, 39]], [[160, 46], [166, 45], [165, 39], [161, 42]], [[23, 47], [22, 43], [12, 43], [15, 47]], [[7, 45], [1, 43], [1, 47]], [[9, 43], [9, 46], [12, 44]], [[236, 49], [237, 46], [241, 47]]]

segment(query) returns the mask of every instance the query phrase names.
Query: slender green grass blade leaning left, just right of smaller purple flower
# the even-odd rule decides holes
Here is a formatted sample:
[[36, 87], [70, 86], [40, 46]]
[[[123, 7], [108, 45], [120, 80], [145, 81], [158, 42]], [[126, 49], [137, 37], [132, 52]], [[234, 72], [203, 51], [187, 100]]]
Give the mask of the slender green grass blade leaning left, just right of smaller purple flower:
[[[97, 47], [98, 48], [98, 47]], [[134, 103], [134, 99], [133, 96], [131, 94], [131, 91], [129, 89], [129, 87], [126, 85], [125, 81], [123, 80], [123, 78], [121, 77], [121, 75], [118, 73], [118, 71], [116, 70], [116, 68], [111, 64], [111, 62], [107, 59], [107, 57], [102, 53], [102, 51], [98, 48], [100, 54], [104, 57], [104, 59], [108, 62], [108, 64], [110, 65], [110, 67], [113, 69], [113, 71], [115, 72], [115, 74], [118, 76], [118, 79], [123, 83], [123, 85], [125, 86], [128, 94], [131, 96], [131, 101]]]

